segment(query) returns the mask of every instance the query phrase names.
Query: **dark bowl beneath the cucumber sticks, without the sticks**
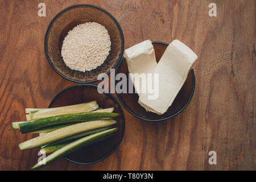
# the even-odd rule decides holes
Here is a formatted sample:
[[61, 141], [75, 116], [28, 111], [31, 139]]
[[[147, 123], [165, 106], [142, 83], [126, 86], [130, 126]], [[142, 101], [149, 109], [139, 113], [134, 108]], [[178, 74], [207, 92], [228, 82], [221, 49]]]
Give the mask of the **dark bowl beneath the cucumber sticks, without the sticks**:
[[58, 93], [53, 98], [51, 104], [49, 104], [49, 107], [60, 107], [95, 100], [100, 107], [114, 107], [114, 113], [119, 113], [119, 117], [116, 118], [117, 124], [115, 124], [115, 126], [118, 127], [117, 133], [64, 157], [74, 163], [92, 164], [104, 160], [117, 149], [125, 133], [125, 116], [123, 115], [121, 105], [111, 93], [102, 89], [105, 93], [100, 94], [97, 88], [102, 89], [96, 85], [90, 84], [69, 86]]

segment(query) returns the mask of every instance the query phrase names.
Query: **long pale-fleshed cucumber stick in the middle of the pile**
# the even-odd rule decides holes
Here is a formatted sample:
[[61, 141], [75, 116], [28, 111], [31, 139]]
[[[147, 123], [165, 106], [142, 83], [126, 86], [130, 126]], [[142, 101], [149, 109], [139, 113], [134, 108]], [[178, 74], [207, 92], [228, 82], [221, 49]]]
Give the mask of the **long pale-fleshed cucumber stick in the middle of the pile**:
[[53, 130], [39, 137], [27, 140], [26, 142], [19, 143], [19, 148], [20, 150], [27, 150], [30, 148], [43, 146], [44, 144], [51, 143], [65, 137], [69, 137], [71, 135], [82, 133], [88, 130], [97, 129], [99, 127], [111, 126], [115, 123], [117, 122], [113, 119], [102, 119], [97, 121], [77, 123], [75, 125], [66, 126], [62, 127], [61, 129]]

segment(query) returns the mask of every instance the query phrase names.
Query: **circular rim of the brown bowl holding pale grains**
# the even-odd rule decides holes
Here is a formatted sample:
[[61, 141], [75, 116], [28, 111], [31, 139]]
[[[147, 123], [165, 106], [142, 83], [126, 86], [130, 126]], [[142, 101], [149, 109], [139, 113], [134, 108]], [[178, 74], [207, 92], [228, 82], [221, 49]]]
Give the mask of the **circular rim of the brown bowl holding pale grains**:
[[[67, 10], [73, 8], [73, 7], [77, 7], [77, 6], [89, 6], [89, 7], [94, 7], [94, 8], [96, 8], [96, 9], [100, 9], [101, 11], [104, 11], [104, 12], [105, 12], [106, 14], [108, 14], [108, 15], [114, 20], [114, 22], [117, 24], [117, 26], [118, 26], [118, 28], [119, 28], [119, 31], [120, 31], [120, 34], [121, 34], [122, 49], [121, 49], [121, 54], [120, 54], [120, 56], [119, 56], [119, 58], [118, 58], [117, 63], [115, 63], [114, 67], [112, 67], [108, 73], [104, 74], [104, 76], [102, 76], [102, 77], [100, 77], [100, 78], [97, 78], [97, 79], [95, 79], [95, 80], [90, 80], [90, 81], [77, 81], [77, 80], [72, 80], [71, 78], [68, 78], [68, 77], [62, 75], [59, 71], [57, 71], [57, 69], [56, 69], [55, 67], [53, 67], [53, 64], [51, 63], [51, 60], [49, 59], [48, 53], [47, 53], [47, 46], [46, 46], [46, 44], [47, 44], [47, 35], [48, 35], [49, 28], [51, 28], [51, 26], [52, 26], [52, 23], [54, 22], [54, 20], [55, 20], [60, 14], [64, 13], [65, 11], [67, 11]], [[104, 78], [105, 76], [108, 76], [109, 73], [111, 73], [111, 72], [113, 71], [113, 69], [116, 68], [117, 65], [118, 65], [118, 63], [121, 61], [121, 58], [122, 58], [122, 56], [123, 56], [123, 48], [124, 48], [124, 45], [125, 45], [125, 40], [123, 39], [123, 31], [122, 31], [122, 28], [121, 28], [121, 26], [119, 25], [119, 23], [117, 22], [117, 20], [114, 18], [114, 16], [113, 16], [112, 14], [110, 14], [108, 11], [102, 9], [101, 7], [94, 6], [94, 5], [88, 5], [88, 4], [73, 5], [73, 6], [69, 6], [69, 7], [65, 8], [64, 10], [61, 10], [57, 15], [54, 16], [54, 18], [53, 18], [53, 19], [51, 20], [51, 22], [49, 23], [49, 25], [48, 25], [48, 27], [47, 27], [47, 30], [46, 30], [46, 35], [44, 36], [44, 52], [46, 53], [46, 58], [47, 58], [49, 64], [51, 65], [51, 67], [54, 69], [54, 71], [55, 71], [56, 73], [58, 73], [61, 77], [65, 78], [65, 79], [67, 79], [67, 80], [69, 80], [69, 81], [76, 82], [76, 83], [80, 83], [80, 84], [95, 82], [95, 81], [101, 80], [101, 79]]]

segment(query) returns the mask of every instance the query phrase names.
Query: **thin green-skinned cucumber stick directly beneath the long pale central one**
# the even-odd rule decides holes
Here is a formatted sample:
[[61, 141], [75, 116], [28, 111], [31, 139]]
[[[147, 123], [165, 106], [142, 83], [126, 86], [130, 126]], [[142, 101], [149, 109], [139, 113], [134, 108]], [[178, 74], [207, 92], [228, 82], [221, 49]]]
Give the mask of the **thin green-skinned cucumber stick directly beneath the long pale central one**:
[[[63, 143], [63, 142], [67, 142], [68, 140], [72, 140], [72, 139], [77, 139], [77, 138], [81, 138], [81, 137], [85, 137], [87, 135], [91, 135], [91, 134], [94, 134], [94, 133], [98, 133], [98, 132], [101, 132], [101, 131], [105, 131], [105, 130], [109, 130], [109, 129], [112, 129], [112, 126], [107, 126], [107, 127], [100, 127], [98, 129], [94, 129], [94, 130], [89, 130], [89, 131], [85, 131], [83, 133], [79, 133], [79, 134], [76, 134], [76, 135], [71, 135], [69, 137], [66, 137], [66, 138], [63, 138], [63, 139], [60, 139], [60, 140], [56, 140], [55, 142], [52, 142], [52, 143], [49, 143], [49, 144], [46, 144], [46, 146], [54, 146], [56, 144], [59, 144], [59, 143]], [[42, 135], [42, 134], [41, 134]], [[43, 134], [44, 135], [44, 134]], [[44, 146], [44, 147], [46, 147]], [[42, 148], [44, 148], [42, 147]]]

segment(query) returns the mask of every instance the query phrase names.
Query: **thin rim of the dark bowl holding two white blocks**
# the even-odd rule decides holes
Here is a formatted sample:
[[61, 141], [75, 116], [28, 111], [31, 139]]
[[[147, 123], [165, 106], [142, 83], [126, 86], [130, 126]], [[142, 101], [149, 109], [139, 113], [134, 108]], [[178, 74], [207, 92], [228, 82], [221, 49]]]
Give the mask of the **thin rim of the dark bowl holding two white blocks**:
[[[153, 44], [164, 44], [166, 46], [168, 46], [169, 44], [168, 43], [164, 43], [164, 42], [152, 42]], [[122, 64], [122, 61], [123, 61], [124, 57], [122, 57], [121, 61], [119, 62], [118, 66], [117, 66], [117, 71], [120, 67], [120, 65]], [[115, 77], [117, 76], [117, 71], [115, 72]], [[195, 85], [196, 85], [196, 78], [195, 78], [195, 73], [194, 73], [194, 70], [191, 69], [191, 72], [192, 72], [192, 76], [193, 76], [193, 89], [192, 89], [192, 93], [191, 93], [191, 96], [189, 97], [188, 99], [188, 102], [179, 110], [177, 111], [175, 114], [172, 114], [166, 118], [162, 118], [162, 119], [147, 119], [147, 118], [143, 118], [135, 113], [133, 113], [133, 111], [131, 111], [130, 109], [128, 109], [128, 107], [125, 105], [125, 103], [123, 103], [123, 101], [121, 100], [121, 97], [119, 96], [119, 93], [116, 92], [117, 94], [117, 97], [118, 97], [118, 100], [119, 102], [121, 102], [122, 106], [125, 107], [125, 109], [127, 111], [129, 111], [129, 113], [133, 114], [135, 117], [137, 118], [140, 118], [140, 119], [143, 119], [144, 121], [151, 121], [151, 122], [158, 122], [158, 121], [164, 121], [164, 120], [167, 120], [167, 119], [170, 119], [170, 118], [173, 118], [175, 117], [177, 114], [181, 113], [181, 111], [183, 111], [185, 109], [185, 107], [188, 106], [189, 102], [191, 101], [192, 97], [193, 97], [193, 94], [194, 94], [194, 91], [195, 91]], [[115, 85], [117, 84], [117, 81], [115, 80]], [[115, 90], [116, 91], [116, 90]]]

